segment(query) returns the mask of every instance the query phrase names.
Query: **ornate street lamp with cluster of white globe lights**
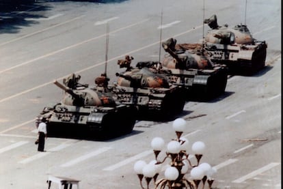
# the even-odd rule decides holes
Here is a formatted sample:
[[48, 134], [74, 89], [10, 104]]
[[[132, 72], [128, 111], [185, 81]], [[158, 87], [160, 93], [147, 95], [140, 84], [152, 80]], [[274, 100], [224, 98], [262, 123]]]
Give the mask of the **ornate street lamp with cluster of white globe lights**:
[[[165, 151], [165, 157], [160, 160], [159, 154], [165, 146], [165, 142], [161, 137], [155, 137], [151, 141], [151, 147], [154, 151], [155, 159], [150, 163], [146, 163], [143, 160], [135, 162], [134, 170], [139, 177], [140, 186], [143, 189], [150, 188], [150, 182], [153, 179], [154, 188], [168, 188], [168, 189], [182, 189], [191, 188], [197, 189], [202, 181], [202, 188], [208, 183], [208, 188], [211, 188], [214, 179], [212, 179], [213, 173], [216, 169], [213, 169], [210, 164], [204, 162], [200, 164], [200, 159], [205, 150], [205, 144], [202, 141], [193, 143], [191, 150], [193, 154], [188, 154], [189, 141], [182, 137], [182, 134], [186, 128], [185, 119], [178, 118], [173, 121], [173, 128], [176, 132], [176, 139], [172, 139], [167, 143], [167, 150]], [[196, 164], [191, 162], [191, 159], [196, 159]], [[167, 168], [164, 171], [164, 177], [157, 180], [161, 172], [161, 166], [166, 164], [166, 160], [170, 160], [167, 163]], [[168, 161], [167, 161], [168, 162]], [[185, 177], [190, 170], [190, 178]], [[143, 180], [146, 180], [146, 187], [143, 185]]]

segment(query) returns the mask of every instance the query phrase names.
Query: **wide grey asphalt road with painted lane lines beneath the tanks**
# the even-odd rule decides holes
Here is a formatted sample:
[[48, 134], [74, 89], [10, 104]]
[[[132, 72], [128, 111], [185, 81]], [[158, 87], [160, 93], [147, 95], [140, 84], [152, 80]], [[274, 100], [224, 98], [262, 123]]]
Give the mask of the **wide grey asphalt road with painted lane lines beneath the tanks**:
[[217, 169], [214, 187], [281, 188], [281, 1], [247, 1], [246, 18], [245, 1], [206, 1], [202, 10], [202, 1], [130, 0], [37, 1], [1, 12], [0, 188], [47, 188], [49, 175], [79, 179], [81, 188], [140, 188], [133, 165], [154, 158], [155, 136], [175, 138], [172, 121], [138, 121], [131, 134], [109, 141], [49, 138], [40, 153], [34, 119], [61, 100], [55, 79], [75, 72], [94, 85], [104, 72], [106, 23], [110, 83], [125, 55], [157, 61], [161, 12], [163, 40], [198, 41], [203, 14], [217, 14], [219, 25], [246, 23], [266, 40], [263, 70], [231, 76], [223, 96], [187, 102], [180, 117], [190, 143], [206, 143], [201, 161]]

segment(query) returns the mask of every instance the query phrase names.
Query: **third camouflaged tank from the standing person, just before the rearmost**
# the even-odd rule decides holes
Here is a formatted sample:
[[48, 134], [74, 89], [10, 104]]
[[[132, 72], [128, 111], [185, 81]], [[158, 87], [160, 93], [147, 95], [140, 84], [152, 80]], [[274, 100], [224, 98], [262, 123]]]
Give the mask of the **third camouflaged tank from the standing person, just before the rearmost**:
[[202, 44], [176, 44], [170, 38], [162, 43], [167, 52], [159, 72], [170, 83], [185, 89], [187, 100], [212, 100], [225, 92], [228, 68], [207, 58]]

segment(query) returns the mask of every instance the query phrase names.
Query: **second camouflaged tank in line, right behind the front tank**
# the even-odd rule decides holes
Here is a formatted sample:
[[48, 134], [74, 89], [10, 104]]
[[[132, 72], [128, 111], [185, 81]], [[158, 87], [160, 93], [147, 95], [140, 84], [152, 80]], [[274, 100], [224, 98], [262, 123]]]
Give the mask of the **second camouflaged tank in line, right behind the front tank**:
[[183, 89], [169, 83], [165, 75], [155, 74], [149, 68], [128, 67], [116, 76], [114, 90], [118, 100], [137, 106], [137, 119], [171, 119], [183, 111]]

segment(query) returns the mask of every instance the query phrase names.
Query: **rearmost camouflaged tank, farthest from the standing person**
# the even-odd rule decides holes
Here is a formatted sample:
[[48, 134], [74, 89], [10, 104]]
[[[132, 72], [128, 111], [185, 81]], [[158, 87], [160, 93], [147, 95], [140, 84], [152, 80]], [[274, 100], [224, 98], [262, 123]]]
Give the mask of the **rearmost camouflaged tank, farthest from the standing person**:
[[254, 74], [265, 67], [267, 44], [254, 39], [247, 25], [219, 26], [216, 15], [204, 23], [211, 28], [204, 38], [211, 61], [226, 64], [232, 74]]

